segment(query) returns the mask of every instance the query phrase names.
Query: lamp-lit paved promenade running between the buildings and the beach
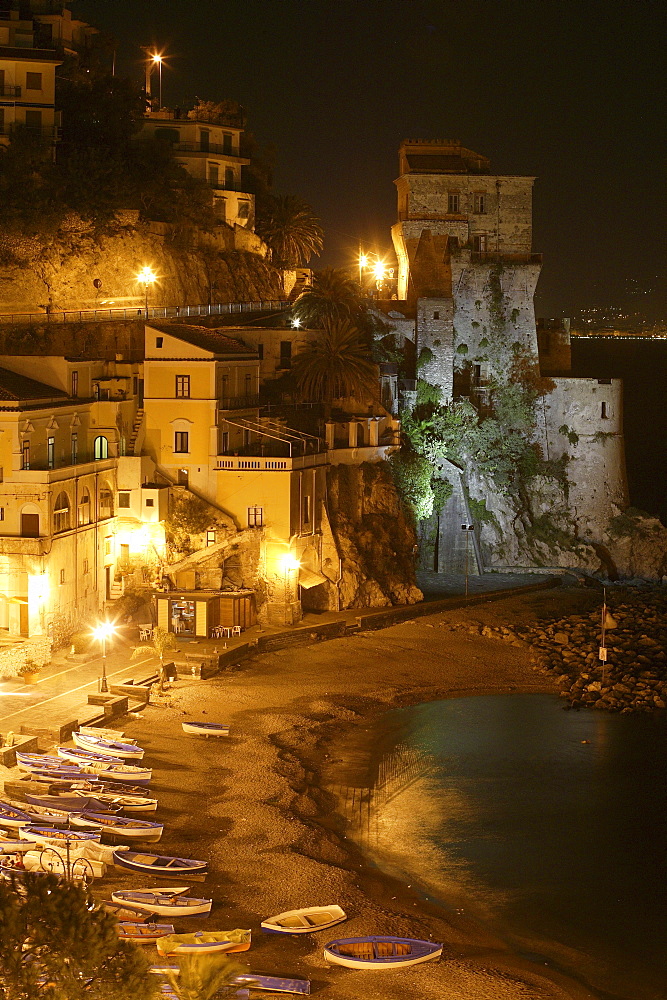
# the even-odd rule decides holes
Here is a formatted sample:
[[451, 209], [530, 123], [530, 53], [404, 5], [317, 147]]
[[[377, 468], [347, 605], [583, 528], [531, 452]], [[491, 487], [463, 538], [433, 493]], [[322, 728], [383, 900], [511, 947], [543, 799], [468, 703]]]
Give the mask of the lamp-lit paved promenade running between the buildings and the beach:
[[[477, 602], [480, 595], [498, 595], [503, 591], [517, 588], [529, 589], [537, 586], [544, 586], [549, 581], [548, 576], [535, 574], [498, 574], [489, 573], [484, 576], [470, 577], [468, 581], [468, 591], [472, 602]], [[429, 613], [428, 608], [433, 605], [433, 612], [442, 610], [448, 604], [459, 605], [465, 602], [465, 580], [463, 577], [447, 577], [435, 573], [419, 574], [419, 585], [424, 590], [426, 601], [424, 604], [413, 605], [412, 611], [415, 615]], [[373, 618], [377, 627], [378, 616], [383, 612], [387, 614], [387, 624], [393, 624], [392, 612], [397, 609], [382, 608], [354, 608], [350, 611], [326, 612], [324, 614], [307, 614], [303, 621], [292, 628], [288, 627], [264, 627], [255, 626], [247, 629], [240, 639], [225, 640], [182, 640], [182, 653], [194, 653], [201, 651], [202, 657], [217, 650], [223, 652], [224, 649], [233, 649], [235, 646], [242, 647], [247, 651], [248, 642], [253, 639], [265, 641], [271, 639], [272, 642], [280, 643], [284, 638], [285, 644], [294, 639], [295, 632], [312, 632], [334, 622], [346, 622], [351, 624], [361, 619], [363, 629], [364, 618]], [[404, 609], [404, 613], [410, 616], [410, 609]], [[131, 660], [134, 646], [140, 645], [138, 628], [136, 625], [119, 627], [118, 635], [109, 643], [106, 657], [106, 674], [109, 684], [120, 684], [134, 677], [144, 678], [153, 673], [157, 667], [157, 660], [149, 655], [139, 656], [136, 660]], [[72, 662], [66, 658], [67, 650], [61, 650], [54, 654], [52, 663], [46, 667], [39, 676], [36, 684], [26, 684], [22, 679], [0, 681], [0, 733], [18, 733], [21, 726], [30, 726], [34, 729], [51, 729], [55, 726], [65, 724], [72, 719], [84, 718], [90, 715], [94, 708], [88, 706], [88, 695], [99, 691], [99, 681], [102, 675], [102, 658], [96, 656], [85, 663]], [[179, 658], [179, 653], [173, 655], [174, 659]], [[100, 710], [101, 711], [101, 710]]]

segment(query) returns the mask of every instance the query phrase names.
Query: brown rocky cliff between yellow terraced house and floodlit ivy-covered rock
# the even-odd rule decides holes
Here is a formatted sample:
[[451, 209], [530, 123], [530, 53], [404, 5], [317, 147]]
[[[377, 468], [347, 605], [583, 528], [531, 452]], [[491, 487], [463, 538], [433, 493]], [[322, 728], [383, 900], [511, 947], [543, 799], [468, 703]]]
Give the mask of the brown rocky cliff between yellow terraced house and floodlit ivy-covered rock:
[[[417, 538], [388, 465], [332, 466], [327, 492], [331, 531], [341, 559], [341, 608], [421, 601], [414, 567]], [[338, 567], [331, 569], [326, 572], [335, 579]]]

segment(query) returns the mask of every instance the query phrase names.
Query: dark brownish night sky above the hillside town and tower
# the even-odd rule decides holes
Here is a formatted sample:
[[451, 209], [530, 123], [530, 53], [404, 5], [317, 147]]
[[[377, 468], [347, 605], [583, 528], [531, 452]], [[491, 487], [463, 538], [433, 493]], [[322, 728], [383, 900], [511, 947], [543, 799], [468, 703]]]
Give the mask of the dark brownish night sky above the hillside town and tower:
[[[664, 0], [75, 0], [165, 104], [231, 97], [321, 217], [321, 263], [390, 249], [403, 138], [456, 138], [535, 175], [538, 315], [667, 316]], [[639, 294], [637, 294], [639, 292]]]

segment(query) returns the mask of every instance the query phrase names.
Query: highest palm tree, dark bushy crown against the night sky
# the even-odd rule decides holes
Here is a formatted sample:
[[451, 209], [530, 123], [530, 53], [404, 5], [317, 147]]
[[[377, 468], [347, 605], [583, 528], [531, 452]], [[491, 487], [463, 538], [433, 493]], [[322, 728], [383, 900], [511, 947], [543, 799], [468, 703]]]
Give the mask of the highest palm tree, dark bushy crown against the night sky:
[[255, 232], [268, 246], [276, 267], [307, 264], [324, 244], [322, 226], [310, 205], [290, 194], [269, 195], [260, 201]]

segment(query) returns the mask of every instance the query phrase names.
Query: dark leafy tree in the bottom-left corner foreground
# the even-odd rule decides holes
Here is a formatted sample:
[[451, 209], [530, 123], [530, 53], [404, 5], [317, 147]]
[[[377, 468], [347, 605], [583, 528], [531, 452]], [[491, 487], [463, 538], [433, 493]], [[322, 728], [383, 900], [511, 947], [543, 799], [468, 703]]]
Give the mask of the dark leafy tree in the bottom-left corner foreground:
[[0, 1000], [148, 1000], [149, 961], [114, 917], [55, 875], [0, 882]]

